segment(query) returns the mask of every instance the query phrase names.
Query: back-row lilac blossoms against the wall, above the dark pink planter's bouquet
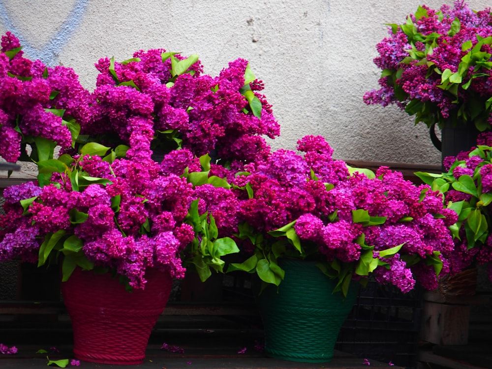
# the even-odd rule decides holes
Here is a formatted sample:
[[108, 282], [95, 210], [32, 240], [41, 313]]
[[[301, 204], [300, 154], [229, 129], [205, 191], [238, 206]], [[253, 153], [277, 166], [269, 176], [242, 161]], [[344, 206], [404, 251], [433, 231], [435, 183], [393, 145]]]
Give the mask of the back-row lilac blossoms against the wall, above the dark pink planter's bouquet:
[[[199, 61], [175, 74], [173, 63], [185, 58], [164, 49], [141, 50], [133, 57], [122, 63], [105, 58], [96, 64], [98, 104], [92, 121], [81, 124], [82, 133], [114, 140], [111, 135], [117, 132], [116, 139], [126, 143], [135, 130], [127, 117], [134, 116], [152, 123], [157, 136], [153, 148], [164, 154], [177, 140], [195, 156], [214, 152], [224, 162], [251, 161], [270, 152], [263, 136], [278, 136], [279, 124], [258, 92], [261, 81], [245, 80], [246, 60], [230, 62], [213, 78], [202, 74]], [[260, 113], [249, 107], [245, 91], [253, 93]]]

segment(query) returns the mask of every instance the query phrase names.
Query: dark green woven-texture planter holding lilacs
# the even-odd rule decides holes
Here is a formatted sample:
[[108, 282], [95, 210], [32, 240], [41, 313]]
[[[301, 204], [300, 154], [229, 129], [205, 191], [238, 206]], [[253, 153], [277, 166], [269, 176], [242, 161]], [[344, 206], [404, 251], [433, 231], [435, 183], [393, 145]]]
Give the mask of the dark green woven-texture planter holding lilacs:
[[326, 277], [315, 262], [281, 260], [285, 278], [257, 297], [265, 331], [265, 354], [307, 363], [328, 362], [341, 325], [355, 304], [358, 284], [348, 296], [332, 294], [336, 282]]

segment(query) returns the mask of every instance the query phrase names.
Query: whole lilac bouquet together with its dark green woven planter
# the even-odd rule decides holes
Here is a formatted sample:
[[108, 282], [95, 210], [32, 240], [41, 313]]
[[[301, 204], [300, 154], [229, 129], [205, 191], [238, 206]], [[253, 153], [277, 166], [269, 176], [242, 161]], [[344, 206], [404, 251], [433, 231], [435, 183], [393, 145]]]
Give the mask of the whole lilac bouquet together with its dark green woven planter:
[[259, 277], [267, 355], [324, 362], [359, 282], [435, 288], [457, 215], [427, 184], [334, 160], [320, 136], [298, 144], [304, 154], [278, 150], [235, 178], [244, 261], [229, 271]]

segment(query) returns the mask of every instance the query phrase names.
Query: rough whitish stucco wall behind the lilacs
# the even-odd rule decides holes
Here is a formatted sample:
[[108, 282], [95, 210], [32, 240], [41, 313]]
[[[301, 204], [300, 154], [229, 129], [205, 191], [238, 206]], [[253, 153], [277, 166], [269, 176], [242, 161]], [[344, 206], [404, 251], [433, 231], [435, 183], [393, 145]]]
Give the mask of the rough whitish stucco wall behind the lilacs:
[[[431, 8], [444, 1], [428, 0]], [[447, 0], [446, 3], [452, 4]], [[469, 0], [473, 9], [489, 6]], [[101, 57], [139, 49], [199, 54], [216, 75], [247, 59], [265, 83], [281, 124], [274, 148], [324, 135], [337, 158], [439, 164], [427, 127], [396, 106], [367, 106], [384, 23], [402, 23], [421, 0], [0, 0], [0, 31], [13, 31], [30, 58], [75, 69], [92, 89]]]

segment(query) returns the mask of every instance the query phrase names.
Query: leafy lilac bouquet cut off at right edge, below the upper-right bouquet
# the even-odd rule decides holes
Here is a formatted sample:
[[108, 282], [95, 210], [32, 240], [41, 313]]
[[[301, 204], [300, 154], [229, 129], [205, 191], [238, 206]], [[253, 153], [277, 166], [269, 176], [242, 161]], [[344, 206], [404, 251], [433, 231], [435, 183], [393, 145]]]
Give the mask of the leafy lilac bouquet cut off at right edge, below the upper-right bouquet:
[[447, 208], [458, 214], [450, 227], [455, 243], [449, 274], [439, 284], [442, 297], [475, 294], [478, 265], [487, 265], [492, 280], [492, 137], [479, 134], [477, 146], [444, 160], [446, 172], [415, 173], [444, 195]]

